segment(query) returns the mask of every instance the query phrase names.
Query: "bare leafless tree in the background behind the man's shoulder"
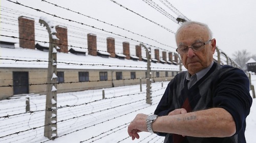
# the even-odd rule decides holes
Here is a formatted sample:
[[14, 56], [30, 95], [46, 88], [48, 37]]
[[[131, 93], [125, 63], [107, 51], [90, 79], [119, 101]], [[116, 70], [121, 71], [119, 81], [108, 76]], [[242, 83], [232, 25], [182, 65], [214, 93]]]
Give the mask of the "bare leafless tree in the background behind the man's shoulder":
[[[254, 55], [255, 56], [255, 55]], [[247, 71], [246, 62], [252, 57], [246, 49], [242, 51], [236, 51], [233, 53], [233, 59], [242, 68], [242, 70]]]

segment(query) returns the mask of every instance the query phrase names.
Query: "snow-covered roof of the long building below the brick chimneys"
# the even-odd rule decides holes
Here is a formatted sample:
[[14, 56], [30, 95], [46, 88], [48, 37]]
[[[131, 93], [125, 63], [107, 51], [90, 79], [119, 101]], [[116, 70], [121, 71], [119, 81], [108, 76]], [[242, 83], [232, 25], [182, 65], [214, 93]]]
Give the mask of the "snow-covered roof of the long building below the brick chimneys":
[[[1, 58], [12, 60], [1, 60], [0, 68], [48, 68], [48, 52], [37, 49], [26, 48], [4, 48], [0, 47]], [[98, 51], [103, 52], [103, 51]], [[108, 53], [108, 52], [103, 52]], [[16, 61], [23, 60], [23, 61]], [[26, 61], [31, 62], [26, 62]], [[61, 63], [58, 63], [61, 62]], [[70, 63], [70, 64], [69, 64]], [[104, 69], [104, 70], [146, 70], [146, 62], [117, 58], [102, 58], [93, 55], [76, 55], [71, 53], [57, 52], [58, 69]], [[127, 67], [125, 65], [130, 65]], [[151, 63], [151, 70], [179, 71], [179, 66]], [[183, 70], [186, 70], [182, 67]]]

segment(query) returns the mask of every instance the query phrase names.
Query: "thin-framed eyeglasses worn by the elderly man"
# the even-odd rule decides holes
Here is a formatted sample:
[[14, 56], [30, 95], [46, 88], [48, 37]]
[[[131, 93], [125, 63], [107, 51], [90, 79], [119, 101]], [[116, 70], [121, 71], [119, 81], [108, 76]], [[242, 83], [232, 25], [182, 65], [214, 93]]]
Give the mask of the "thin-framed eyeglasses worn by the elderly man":
[[187, 53], [188, 51], [188, 48], [191, 48], [193, 49], [194, 51], [199, 51], [201, 49], [204, 48], [204, 45], [208, 44], [211, 40], [208, 40], [206, 42], [198, 42], [198, 43], [195, 43], [193, 45], [191, 45], [190, 47], [188, 46], [183, 46], [183, 47], [179, 47], [176, 49], [176, 51], [179, 53], [179, 54], [184, 54], [184, 53]]

